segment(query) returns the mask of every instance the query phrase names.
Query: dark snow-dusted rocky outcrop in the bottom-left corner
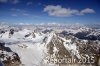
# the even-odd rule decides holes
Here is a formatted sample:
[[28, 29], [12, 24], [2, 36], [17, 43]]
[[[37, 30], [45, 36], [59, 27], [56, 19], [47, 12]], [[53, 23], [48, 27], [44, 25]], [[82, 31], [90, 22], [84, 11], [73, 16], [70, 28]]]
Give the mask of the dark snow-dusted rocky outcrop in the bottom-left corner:
[[18, 54], [5, 47], [5, 43], [0, 43], [0, 59], [4, 66], [19, 66], [21, 64]]

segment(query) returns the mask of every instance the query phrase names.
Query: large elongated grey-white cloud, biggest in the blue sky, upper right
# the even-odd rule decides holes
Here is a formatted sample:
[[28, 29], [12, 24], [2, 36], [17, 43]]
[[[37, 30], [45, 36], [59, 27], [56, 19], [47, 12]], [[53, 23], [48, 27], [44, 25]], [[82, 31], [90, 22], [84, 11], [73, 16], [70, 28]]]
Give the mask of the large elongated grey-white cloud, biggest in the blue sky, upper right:
[[86, 9], [79, 11], [76, 9], [63, 8], [60, 5], [57, 5], [57, 6], [48, 5], [44, 8], [44, 12], [47, 12], [49, 14], [49, 16], [69, 17], [69, 16], [73, 16], [73, 15], [94, 13], [95, 11], [93, 9], [90, 9], [90, 8], [86, 8]]

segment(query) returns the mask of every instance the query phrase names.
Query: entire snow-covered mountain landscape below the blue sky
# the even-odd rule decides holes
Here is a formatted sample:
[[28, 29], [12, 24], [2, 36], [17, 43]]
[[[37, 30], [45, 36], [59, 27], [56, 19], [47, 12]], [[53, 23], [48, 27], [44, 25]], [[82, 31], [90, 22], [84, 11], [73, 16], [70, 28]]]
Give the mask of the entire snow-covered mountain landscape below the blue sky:
[[73, 27], [69, 31], [67, 29], [51, 30], [50, 27], [49, 29], [45, 27], [40, 29], [39, 26], [33, 29], [28, 27], [24, 26], [21, 29], [10, 27], [6, 31], [0, 31], [0, 42], [11, 50], [1, 51], [3, 50], [1, 46], [0, 55], [4, 54], [11, 58], [17, 56], [19, 60], [17, 65], [15, 65], [16, 61], [9, 62], [11, 63], [9, 65], [4, 63], [6, 56], [3, 60], [0, 57], [4, 66], [81, 66], [82, 64], [97, 66], [99, 64], [100, 41], [80, 39], [75, 35], [78, 32], [88, 31], [92, 34], [93, 31], [91, 32], [90, 28], [81, 27], [76, 30]]

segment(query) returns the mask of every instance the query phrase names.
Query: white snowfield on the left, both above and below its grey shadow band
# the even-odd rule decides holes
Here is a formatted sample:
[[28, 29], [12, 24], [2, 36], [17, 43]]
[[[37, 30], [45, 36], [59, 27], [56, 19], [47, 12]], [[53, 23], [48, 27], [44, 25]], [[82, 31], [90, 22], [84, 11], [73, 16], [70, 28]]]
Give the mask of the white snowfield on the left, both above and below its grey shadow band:
[[[39, 35], [37, 33], [35, 38], [24, 36], [32, 31], [27, 29], [15, 32], [14, 35], [9, 38], [9, 32], [3, 34], [0, 41], [6, 42], [6, 47], [9, 47], [13, 52], [16, 52], [20, 57], [20, 60], [24, 66], [41, 66], [41, 62], [46, 54], [46, 47], [43, 42], [45, 35]], [[11, 56], [11, 53], [9, 53]]]

